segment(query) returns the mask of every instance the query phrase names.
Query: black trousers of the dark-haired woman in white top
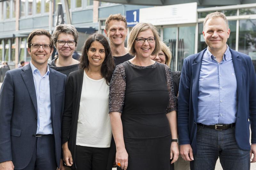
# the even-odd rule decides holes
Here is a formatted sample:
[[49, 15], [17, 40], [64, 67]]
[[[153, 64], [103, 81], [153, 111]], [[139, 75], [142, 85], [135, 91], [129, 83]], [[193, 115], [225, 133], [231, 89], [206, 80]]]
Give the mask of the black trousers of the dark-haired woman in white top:
[[106, 170], [108, 148], [76, 145], [76, 170]]

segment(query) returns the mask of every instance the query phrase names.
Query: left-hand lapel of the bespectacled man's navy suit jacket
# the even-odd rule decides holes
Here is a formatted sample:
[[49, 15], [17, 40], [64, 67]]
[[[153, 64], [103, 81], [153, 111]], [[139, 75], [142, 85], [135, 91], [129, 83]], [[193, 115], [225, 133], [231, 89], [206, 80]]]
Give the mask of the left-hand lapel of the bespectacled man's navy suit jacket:
[[28, 89], [28, 94], [34, 104], [36, 114], [37, 113], [37, 101], [36, 101], [36, 88], [35, 88], [35, 83], [34, 83], [34, 78], [33, 78], [33, 73], [32, 69], [30, 67], [30, 63], [22, 68], [23, 72], [20, 73], [21, 77]]

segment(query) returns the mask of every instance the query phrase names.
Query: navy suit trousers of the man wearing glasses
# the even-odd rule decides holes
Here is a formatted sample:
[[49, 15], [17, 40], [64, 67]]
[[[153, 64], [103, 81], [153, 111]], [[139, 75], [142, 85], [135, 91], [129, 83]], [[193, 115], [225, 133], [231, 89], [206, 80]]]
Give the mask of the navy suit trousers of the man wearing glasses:
[[[36, 145], [32, 158], [23, 170], [56, 170], [54, 136], [36, 137]], [[15, 169], [15, 167], [14, 167]]]

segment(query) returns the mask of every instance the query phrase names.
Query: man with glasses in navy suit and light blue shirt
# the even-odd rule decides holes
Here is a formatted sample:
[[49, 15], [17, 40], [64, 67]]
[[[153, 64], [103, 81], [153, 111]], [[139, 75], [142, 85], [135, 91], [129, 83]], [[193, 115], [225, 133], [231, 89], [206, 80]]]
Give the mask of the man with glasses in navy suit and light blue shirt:
[[42, 29], [28, 36], [31, 62], [6, 72], [0, 91], [0, 170], [60, 167], [66, 75], [48, 67], [53, 40]]

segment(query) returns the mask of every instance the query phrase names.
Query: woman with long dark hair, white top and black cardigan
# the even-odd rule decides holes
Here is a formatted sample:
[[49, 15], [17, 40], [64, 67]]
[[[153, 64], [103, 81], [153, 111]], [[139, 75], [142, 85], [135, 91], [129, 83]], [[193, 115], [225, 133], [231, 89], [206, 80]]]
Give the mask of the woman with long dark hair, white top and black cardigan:
[[85, 41], [77, 71], [69, 74], [62, 121], [63, 160], [72, 169], [105, 170], [112, 137], [109, 81], [115, 68], [106, 37]]

